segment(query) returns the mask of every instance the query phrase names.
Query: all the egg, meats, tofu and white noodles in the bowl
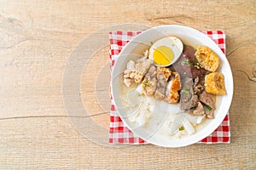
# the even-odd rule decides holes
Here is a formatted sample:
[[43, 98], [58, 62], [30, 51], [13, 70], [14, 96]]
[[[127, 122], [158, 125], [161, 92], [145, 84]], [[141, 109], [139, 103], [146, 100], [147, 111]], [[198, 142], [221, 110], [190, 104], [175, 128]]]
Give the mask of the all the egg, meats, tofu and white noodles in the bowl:
[[[123, 72], [129, 120], [146, 126], [153, 115], [164, 112], [170, 115], [170, 135], [195, 133], [199, 124], [214, 118], [216, 95], [226, 94], [224, 75], [215, 72], [218, 65], [218, 55], [206, 46], [195, 50], [177, 37], [152, 43], [141, 57], [129, 60]], [[179, 107], [174, 113], [173, 105]]]

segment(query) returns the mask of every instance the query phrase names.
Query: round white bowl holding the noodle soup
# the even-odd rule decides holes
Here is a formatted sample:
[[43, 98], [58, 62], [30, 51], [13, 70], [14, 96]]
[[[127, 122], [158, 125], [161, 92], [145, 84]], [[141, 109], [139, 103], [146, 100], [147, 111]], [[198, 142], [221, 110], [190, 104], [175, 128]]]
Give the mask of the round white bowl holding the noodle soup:
[[[142, 55], [143, 51], [150, 47], [151, 42], [155, 42], [158, 39], [167, 36], [179, 37], [184, 44], [190, 45], [193, 48], [196, 48], [198, 45], [205, 45], [209, 48], [212, 48], [212, 50], [218, 54], [220, 58], [218, 71], [224, 74], [225, 88], [227, 90], [227, 95], [217, 96], [217, 109], [214, 112], [215, 118], [208, 120], [199, 126], [196, 129], [197, 132], [195, 134], [185, 136], [181, 139], [173, 138], [167, 133], [160, 132], [160, 130], [153, 132], [153, 129], [155, 129], [153, 123], [149, 123], [148, 127], [135, 127], [135, 125], [128, 120], [127, 108], [125, 108], [125, 105], [122, 104], [120, 99], [120, 96], [122, 95], [120, 87], [121, 83], [123, 83], [122, 73], [125, 70], [126, 63], [130, 59], [136, 59], [138, 56]], [[137, 37], [134, 37], [129, 43], [125, 45], [125, 48], [122, 49], [121, 53], [119, 54], [119, 58], [116, 60], [112, 72], [111, 83], [116, 110], [119, 112], [119, 116], [125, 125], [129, 127], [133, 133], [148, 141], [148, 143], [165, 147], [180, 147], [189, 144], [195, 144], [201, 139], [206, 138], [220, 125], [221, 122], [223, 122], [224, 117], [230, 109], [233, 96], [233, 77], [230, 64], [221, 49], [218, 48], [218, 45], [213, 42], [211, 38], [201, 33], [201, 31], [197, 31], [186, 26], [156, 26], [143, 31], [141, 34], [137, 35]], [[178, 107], [174, 106], [173, 111], [178, 111]], [[160, 117], [165, 116], [165, 112], [160, 113]]]

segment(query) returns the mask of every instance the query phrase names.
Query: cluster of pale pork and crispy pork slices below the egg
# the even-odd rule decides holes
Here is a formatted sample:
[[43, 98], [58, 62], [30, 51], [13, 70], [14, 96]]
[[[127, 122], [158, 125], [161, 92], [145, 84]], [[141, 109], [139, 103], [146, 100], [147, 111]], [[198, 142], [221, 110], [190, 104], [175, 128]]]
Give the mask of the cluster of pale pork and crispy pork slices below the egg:
[[124, 71], [124, 84], [130, 87], [131, 82], [141, 84], [142, 93], [146, 96], [154, 96], [156, 100], [165, 99], [168, 103], [177, 103], [179, 99], [177, 93], [181, 88], [179, 74], [169, 68], [153, 65], [147, 57], [128, 61]]

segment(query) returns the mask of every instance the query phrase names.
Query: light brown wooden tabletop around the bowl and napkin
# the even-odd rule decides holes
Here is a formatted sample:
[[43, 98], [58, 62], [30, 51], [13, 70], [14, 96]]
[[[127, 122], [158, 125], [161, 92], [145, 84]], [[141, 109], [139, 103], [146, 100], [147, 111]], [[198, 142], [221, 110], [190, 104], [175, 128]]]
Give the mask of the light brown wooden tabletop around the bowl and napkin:
[[[0, 169], [255, 169], [255, 8], [253, 0], [1, 1]], [[225, 31], [235, 81], [230, 144], [109, 146], [108, 45], [84, 66], [79, 93], [104, 139], [79, 131], [62, 99], [67, 59], [86, 36], [108, 37], [126, 23]]]

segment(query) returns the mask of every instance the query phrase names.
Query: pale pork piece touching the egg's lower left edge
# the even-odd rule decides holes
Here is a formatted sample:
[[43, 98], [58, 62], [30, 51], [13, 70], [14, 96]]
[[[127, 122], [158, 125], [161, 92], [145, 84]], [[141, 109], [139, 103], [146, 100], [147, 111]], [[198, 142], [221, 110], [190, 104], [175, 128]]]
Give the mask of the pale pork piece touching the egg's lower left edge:
[[153, 65], [153, 61], [151, 59], [147, 59], [145, 57], [137, 59], [135, 65], [135, 82], [141, 83], [143, 82], [143, 77], [147, 73], [149, 67]]

